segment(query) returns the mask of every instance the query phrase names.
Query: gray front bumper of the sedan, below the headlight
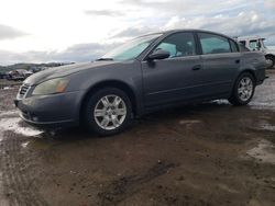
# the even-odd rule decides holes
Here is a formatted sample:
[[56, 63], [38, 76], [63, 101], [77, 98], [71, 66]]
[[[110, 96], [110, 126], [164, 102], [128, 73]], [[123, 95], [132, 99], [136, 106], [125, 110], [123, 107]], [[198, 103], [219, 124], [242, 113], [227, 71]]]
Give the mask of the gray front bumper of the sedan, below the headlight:
[[36, 127], [65, 127], [79, 124], [84, 91], [37, 95], [14, 100], [20, 116]]

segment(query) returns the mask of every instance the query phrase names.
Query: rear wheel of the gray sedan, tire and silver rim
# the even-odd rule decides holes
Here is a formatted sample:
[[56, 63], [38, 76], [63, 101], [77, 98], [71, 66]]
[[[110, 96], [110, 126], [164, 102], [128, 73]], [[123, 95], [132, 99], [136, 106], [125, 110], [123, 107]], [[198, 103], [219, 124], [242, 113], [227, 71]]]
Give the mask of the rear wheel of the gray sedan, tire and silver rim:
[[244, 72], [238, 77], [228, 101], [237, 106], [246, 105], [252, 100], [254, 91], [255, 78], [251, 73]]

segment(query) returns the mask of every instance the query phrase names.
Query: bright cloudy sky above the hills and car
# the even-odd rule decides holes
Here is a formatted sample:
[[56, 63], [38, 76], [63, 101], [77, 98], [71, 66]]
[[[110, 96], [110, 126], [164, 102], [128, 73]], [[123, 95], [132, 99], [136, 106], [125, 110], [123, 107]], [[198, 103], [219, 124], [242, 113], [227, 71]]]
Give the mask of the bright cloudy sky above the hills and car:
[[0, 1], [0, 65], [89, 61], [173, 28], [260, 35], [275, 45], [275, 0]]

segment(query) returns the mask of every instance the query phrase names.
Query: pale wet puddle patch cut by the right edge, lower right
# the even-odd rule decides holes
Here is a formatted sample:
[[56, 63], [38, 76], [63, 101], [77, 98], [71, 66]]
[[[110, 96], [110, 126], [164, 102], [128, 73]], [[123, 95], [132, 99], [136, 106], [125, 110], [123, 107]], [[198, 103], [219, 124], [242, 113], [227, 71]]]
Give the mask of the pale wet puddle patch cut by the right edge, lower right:
[[264, 163], [275, 164], [275, 147], [268, 140], [260, 140], [258, 145], [250, 149], [246, 153]]

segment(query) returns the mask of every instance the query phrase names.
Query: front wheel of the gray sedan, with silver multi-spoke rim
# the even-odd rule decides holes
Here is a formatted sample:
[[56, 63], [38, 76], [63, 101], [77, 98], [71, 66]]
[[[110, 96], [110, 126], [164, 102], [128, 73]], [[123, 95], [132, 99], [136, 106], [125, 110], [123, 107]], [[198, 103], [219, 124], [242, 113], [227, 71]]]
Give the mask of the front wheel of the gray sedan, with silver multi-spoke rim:
[[100, 136], [118, 134], [132, 121], [131, 101], [116, 88], [98, 90], [87, 100], [84, 112], [86, 128]]

